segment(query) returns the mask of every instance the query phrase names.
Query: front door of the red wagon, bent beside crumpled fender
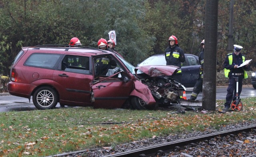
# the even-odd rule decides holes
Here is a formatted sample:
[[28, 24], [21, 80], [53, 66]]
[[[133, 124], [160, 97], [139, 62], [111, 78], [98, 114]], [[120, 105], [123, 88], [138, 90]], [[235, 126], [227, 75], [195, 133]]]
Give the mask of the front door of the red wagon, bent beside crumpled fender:
[[[123, 68], [124, 66], [121, 67], [120, 62], [114, 59], [114, 57], [104, 56], [104, 58], [114, 60], [116, 67], [109, 69], [106, 76], [95, 76], [95, 79], [92, 81], [92, 91], [95, 98], [94, 108], [120, 108], [134, 89], [134, 82], [127, 73], [127, 70]], [[95, 58], [94, 60], [94, 65], [97, 65], [96, 63], [100, 58]], [[110, 71], [115, 70], [117, 73], [110, 73]]]

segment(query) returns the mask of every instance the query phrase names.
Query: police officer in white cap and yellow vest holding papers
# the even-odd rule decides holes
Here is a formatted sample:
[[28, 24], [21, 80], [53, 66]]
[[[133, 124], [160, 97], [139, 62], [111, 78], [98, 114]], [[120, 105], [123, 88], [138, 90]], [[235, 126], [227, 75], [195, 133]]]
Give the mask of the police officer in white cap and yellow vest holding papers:
[[232, 100], [236, 99], [236, 79], [234, 77], [238, 77], [238, 96], [242, 91], [243, 78], [248, 78], [245, 71], [248, 70], [248, 65], [238, 68], [245, 61], [245, 56], [241, 53], [242, 48], [242, 46], [234, 45], [234, 52], [226, 56], [223, 64], [225, 77], [229, 78], [225, 109], [229, 109]]

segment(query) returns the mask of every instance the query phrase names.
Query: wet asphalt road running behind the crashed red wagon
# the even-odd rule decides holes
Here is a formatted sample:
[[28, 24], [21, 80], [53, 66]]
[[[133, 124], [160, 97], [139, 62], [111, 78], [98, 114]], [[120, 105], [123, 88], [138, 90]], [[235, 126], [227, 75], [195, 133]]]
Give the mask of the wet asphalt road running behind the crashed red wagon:
[[[227, 87], [218, 87], [216, 88], [216, 99], [225, 99], [226, 98], [226, 89]], [[193, 88], [187, 88], [186, 97], [187, 99], [190, 97]], [[16, 97], [13, 95], [9, 95], [8, 93], [0, 93], [0, 112], [8, 112], [8, 111], [32, 111], [37, 110], [37, 108], [32, 103], [32, 98], [30, 102], [28, 99], [23, 97]], [[243, 87], [242, 93], [240, 95], [241, 98], [245, 97], [256, 97], [256, 89], [252, 86]], [[198, 95], [198, 100], [202, 99], [202, 92]], [[56, 108], [60, 107], [58, 103]]]

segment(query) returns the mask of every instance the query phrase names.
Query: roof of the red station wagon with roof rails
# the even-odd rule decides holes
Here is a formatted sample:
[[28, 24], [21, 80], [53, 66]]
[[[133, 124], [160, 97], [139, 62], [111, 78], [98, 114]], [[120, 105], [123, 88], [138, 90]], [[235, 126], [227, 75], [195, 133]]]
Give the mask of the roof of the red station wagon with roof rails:
[[38, 45], [31, 47], [23, 47], [22, 50], [26, 52], [27, 50], [40, 50], [41, 52], [51, 52], [51, 53], [74, 53], [74, 54], [88, 54], [91, 56], [100, 54], [113, 54], [113, 52], [101, 50], [98, 48], [91, 48], [86, 46], [74, 46], [70, 47], [68, 45]]

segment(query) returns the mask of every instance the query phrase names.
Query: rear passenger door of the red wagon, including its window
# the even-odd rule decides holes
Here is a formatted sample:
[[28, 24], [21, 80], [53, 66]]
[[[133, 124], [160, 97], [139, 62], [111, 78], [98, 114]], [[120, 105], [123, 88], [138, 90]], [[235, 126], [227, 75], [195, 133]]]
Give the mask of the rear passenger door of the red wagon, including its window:
[[[75, 66], [66, 63], [68, 58], [79, 60]], [[87, 56], [65, 55], [59, 69], [53, 73], [57, 82], [60, 103], [63, 105], [91, 105], [91, 87], [93, 79], [90, 69], [90, 58]]]

